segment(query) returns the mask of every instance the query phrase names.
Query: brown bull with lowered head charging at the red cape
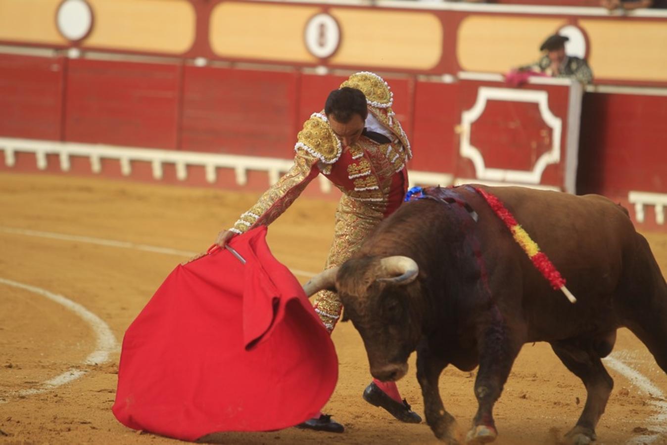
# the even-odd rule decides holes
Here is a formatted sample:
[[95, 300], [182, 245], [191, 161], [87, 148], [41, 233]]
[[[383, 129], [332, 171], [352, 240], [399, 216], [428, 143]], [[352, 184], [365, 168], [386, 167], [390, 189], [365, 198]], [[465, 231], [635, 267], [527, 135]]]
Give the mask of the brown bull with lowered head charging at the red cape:
[[[667, 372], [667, 285], [628, 212], [599, 195], [481, 187], [498, 197], [546, 252], [578, 300], [538, 272], [510, 230], [472, 187], [434, 188], [405, 203], [340, 268], [315, 276], [307, 294], [336, 290], [360, 332], [370, 370], [398, 380], [417, 351], [426, 422], [456, 444], [456, 421], [438, 380], [452, 364], [470, 371], [478, 410], [468, 443], [496, 439], [494, 403], [526, 342], [549, 342], [586, 386], [583, 412], [565, 436], [596, 440], [613, 380], [601, 358], [629, 328]], [[447, 197], [454, 199], [446, 199]]]

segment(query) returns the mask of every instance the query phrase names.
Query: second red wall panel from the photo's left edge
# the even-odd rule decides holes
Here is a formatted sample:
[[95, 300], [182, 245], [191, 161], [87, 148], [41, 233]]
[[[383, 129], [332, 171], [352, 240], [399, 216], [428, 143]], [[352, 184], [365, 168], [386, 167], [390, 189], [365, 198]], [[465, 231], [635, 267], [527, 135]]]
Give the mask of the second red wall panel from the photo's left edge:
[[180, 65], [73, 59], [65, 138], [175, 149]]

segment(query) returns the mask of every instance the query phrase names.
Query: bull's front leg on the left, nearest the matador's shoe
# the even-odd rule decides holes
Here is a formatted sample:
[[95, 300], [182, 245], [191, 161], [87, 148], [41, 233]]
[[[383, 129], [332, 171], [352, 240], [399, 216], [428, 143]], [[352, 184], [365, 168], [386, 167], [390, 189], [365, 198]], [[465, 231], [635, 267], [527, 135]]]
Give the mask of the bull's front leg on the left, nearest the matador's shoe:
[[452, 414], [445, 410], [438, 389], [442, 370], [448, 365], [446, 360], [432, 353], [426, 342], [417, 348], [417, 379], [424, 397], [426, 423], [436, 437], [447, 444], [459, 443], [459, 430]]

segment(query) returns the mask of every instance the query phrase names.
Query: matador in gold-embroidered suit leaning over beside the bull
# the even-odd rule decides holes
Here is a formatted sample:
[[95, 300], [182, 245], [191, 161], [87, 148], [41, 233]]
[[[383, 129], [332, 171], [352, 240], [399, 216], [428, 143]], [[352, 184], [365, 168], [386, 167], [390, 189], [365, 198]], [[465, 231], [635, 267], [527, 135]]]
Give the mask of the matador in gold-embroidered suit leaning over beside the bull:
[[[319, 173], [343, 193], [336, 210], [335, 234], [325, 268], [340, 266], [370, 231], [402, 203], [408, 187], [406, 163], [410, 142], [392, 110], [394, 93], [382, 77], [356, 73], [331, 91], [323, 111], [303, 124], [294, 147], [294, 164], [229, 230], [220, 232], [223, 246], [231, 236], [260, 224], [271, 224]], [[342, 304], [335, 292], [315, 295], [315, 311], [331, 332]], [[398, 420], [421, 422], [394, 382], [374, 380], [364, 399]], [[342, 432], [344, 427], [321, 415], [302, 428]]]

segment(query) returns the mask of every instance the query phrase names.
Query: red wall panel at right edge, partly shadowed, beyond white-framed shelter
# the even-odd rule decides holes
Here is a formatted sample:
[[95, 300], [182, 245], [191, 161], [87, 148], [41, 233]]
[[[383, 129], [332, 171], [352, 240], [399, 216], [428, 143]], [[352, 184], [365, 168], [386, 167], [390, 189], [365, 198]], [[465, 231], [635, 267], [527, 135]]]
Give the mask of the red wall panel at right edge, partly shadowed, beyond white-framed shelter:
[[667, 97], [587, 94], [578, 183], [582, 193], [667, 193]]

